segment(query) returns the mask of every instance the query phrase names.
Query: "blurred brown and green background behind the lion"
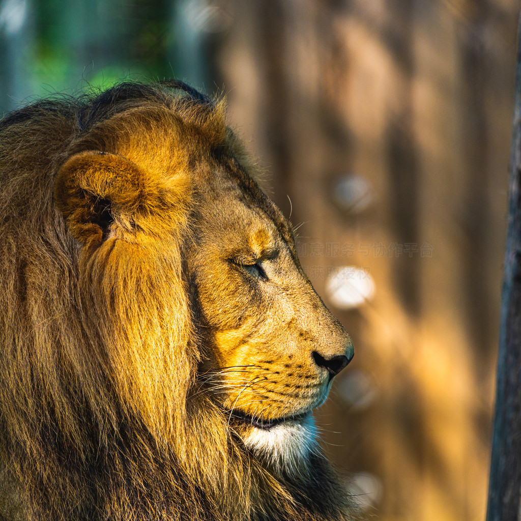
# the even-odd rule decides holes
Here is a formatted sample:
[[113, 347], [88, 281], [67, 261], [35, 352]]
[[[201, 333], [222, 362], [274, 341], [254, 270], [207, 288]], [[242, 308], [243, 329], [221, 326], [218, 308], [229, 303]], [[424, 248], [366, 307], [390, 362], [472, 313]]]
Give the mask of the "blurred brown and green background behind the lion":
[[517, 0], [0, 0], [0, 113], [225, 94], [356, 356], [317, 413], [382, 521], [485, 518]]

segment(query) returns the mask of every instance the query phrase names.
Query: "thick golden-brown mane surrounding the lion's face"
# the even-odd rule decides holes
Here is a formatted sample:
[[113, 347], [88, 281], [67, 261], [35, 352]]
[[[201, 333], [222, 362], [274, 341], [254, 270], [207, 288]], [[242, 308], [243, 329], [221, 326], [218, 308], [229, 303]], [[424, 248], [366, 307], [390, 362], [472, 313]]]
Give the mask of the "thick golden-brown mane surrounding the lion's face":
[[[183, 261], [196, 219], [186, 174], [167, 196], [143, 168], [130, 172], [139, 182], [114, 218], [123, 230], [145, 230], [146, 247], [97, 247], [103, 230], [89, 228], [85, 213], [103, 221], [103, 205], [85, 190], [55, 188], [72, 154], [110, 150], [114, 139], [135, 153], [153, 142], [179, 171], [196, 169], [172, 152], [168, 125], [196, 153], [211, 145], [243, 160], [223, 111], [180, 82], [126, 83], [0, 122], [0, 519], [348, 519], [344, 487], [324, 458], [274, 472], [201, 392]], [[157, 161], [141, 159], [151, 169]], [[132, 222], [130, 207], [139, 210]]]

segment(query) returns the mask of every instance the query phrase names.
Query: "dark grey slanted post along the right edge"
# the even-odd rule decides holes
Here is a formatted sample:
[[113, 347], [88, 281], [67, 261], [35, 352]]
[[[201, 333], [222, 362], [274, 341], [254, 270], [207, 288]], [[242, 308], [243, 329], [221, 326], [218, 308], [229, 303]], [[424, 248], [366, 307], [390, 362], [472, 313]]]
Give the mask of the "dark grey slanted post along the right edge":
[[517, 521], [521, 492], [521, 18], [487, 521]]

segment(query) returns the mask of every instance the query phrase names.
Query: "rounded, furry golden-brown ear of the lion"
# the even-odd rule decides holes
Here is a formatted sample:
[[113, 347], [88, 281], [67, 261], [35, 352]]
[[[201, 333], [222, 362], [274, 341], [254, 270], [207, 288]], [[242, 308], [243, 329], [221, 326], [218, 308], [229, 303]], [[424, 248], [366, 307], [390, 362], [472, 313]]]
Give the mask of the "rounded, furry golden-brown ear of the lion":
[[184, 184], [159, 187], [150, 172], [129, 159], [89, 151], [61, 166], [54, 197], [73, 237], [86, 244], [102, 241], [114, 223], [128, 231], [136, 225], [155, 232], [174, 226], [183, 206], [179, 192], [185, 191]]

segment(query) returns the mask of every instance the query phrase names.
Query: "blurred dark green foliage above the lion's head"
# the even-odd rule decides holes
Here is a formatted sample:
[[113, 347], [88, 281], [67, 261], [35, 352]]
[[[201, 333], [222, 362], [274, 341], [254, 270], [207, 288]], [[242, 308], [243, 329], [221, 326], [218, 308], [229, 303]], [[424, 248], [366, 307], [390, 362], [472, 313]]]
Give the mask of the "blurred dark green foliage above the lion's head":
[[167, 0], [35, 0], [35, 95], [175, 77]]

